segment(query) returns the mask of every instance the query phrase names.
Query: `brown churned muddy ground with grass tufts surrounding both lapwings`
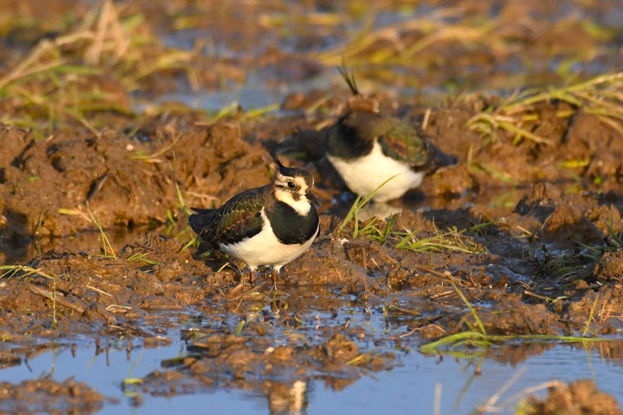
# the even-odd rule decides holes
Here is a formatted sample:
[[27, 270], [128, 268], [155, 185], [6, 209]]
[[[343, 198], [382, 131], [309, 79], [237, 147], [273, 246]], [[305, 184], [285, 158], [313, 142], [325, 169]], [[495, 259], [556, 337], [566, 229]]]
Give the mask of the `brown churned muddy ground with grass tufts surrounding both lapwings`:
[[[242, 2], [235, 10], [202, 2], [104, 2], [100, 9], [69, 1], [47, 2], [47, 9], [2, 3], [0, 9], [23, 18], [0, 19], [2, 367], [27, 364], [29, 356], [51, 348], [75, 352], [94, 342], [98, 351], [127, 348], [128, 358], [136, 349], [183, 342], [183, 357], [163, 361], [143, 378], [119, 380], [133, 404], [150, 394], [237, 388], [264, 394], [270, 410], [280, 412], [300, 409], [297, 382], [320, 379], [341, 390], [440, 339], [450, 338], [428, 353], [459, 350], [513, 365], [563, 337], [577, 347], [603, 338], [594, 343], [602, 356], [623, 357], [620, 343], [609, 341], [623, 330], [623, 112], [617, 90], [623, 77], [614, 73], [595, 88], [515, 107], [509, 91], [517, 81], [522, 92], [571, 82], [561, 67], [548, 70], [550, 61], [567, 62], [568, 71], [581, 64], [572, 71], [577, 82], [606, 73], [596, 67], [616, 68], [621, 26], [609, 20], [621, 13], [616, 2], [569, 3], [572, 11], [525, 1], [439, 2], [433, 7], [439, 16], [425, 16], [435, 22], [432, 28], [396, 18], [386, 32], [381, 26], [370, 42], [351, 49], [342, 43], [353, 31], [346, 21], [372, 13], [356, 2], [345, 9], [331, 2]], [[412, 6], [382, 3], [388, 11]], [[315, 19], [283, 17], [304, 15], [305, 7], [317, 12]], [[89, 13], [91, 21], [83, 17]], [[104, 13], [116, 16], [110, 27], [97, 25]], [[508, 26], [518, 13], [524, 19]], [[137, 14], [141, 23], [132, 26]], [[484, 15], [495, 24], [481, 26], [477, 17]], [[63, 24], [50, 23], [59, 16], [66, 17]], [[544, 16], [556, 24], [544, 24]], [[123, 29], [116, 29], [117, 17]], [[301, 33], [293, 35], [297, 22]], [[448, 32], [453, 23], [474, 32], [458, 41]], [[54, 49], [68, 65], [59, 72], [15, 72], [43, 40], [82, 33], [75, 27], [93, 27], [96, 40], [102, 34], [101, 55], [85, 37], [80, 42], [86, 43]], [[128, 27], [135, 32], [125, 44], [117, 35]], [[576, 35], [578, 30], [590, 35]], [[583, 43], [569, 45], [569, 34]], [[149, 36], [161, 40], [150, 43]], [[335, 44], [319, 46], [331, 36]], [[138, 53], [137, 39], [145, 42], [139, 58], [115, 55], [122, 44], [123, 51]], [[252, 39], [260, 45], [250, 45]], [[175, 58], [172, 42], [179, 48]], [[409, 53], [415, 52], [409, 46], [424, 66], [411, 65]], [[275, 89], [330, 77], [325, 69], [340, 54], [358, 68], [363, 90], [378, 98], [383, 113], [417, 124], [460, 160], [402, 200], [366, 207], [384, 213], [377, 219], [362, 214], [358, 230], [365, 231], [356, 236], [354, 222], [343, 223], [354, 198], [322, 151], [349, 96], [339, 80], [277, 95], [277, 111], [267, 114], [242, 101], [244, 108], [220, 113], [171, 101], [136, 110], [171, 90], [211, 93], [244, 82], [249, 68], [259, 72], [252, 79]], [[47, 65], [58, 56], [36, 58]], [[158, 61], [163, 56], [168, 60]], [[70, 64], [99, 70], [71, 78]], [[477, 70], [465, 75], [468, 64]], [[509, 70], [513, 65], [518, 68]], [[408, 70], [392, 76], [397, 68]], [[505, 93], [483, 92], [501, 85]], [[447, 93], [433, 98], [423, 92], [437, 87]], [[417, 94], [404, 95], [409, 88]], [[178, 197], [179, 189], [186, 206], [219, 206], [240, 190], [266, 184], [272, 149], [314, 175], [323, 202], [320, 236], [285, 267], [277, 290], [265, 279], [244, 286], [244, 264], [188, 245], [193, 235]], [[85, 234], [91, 235], [88, 243], [80, 237]], [[351, 315], [340, 315], [344, 309]], [[171, 313], [199, 321], [183, 328], [167, 323]], [[371, 330], [365, 322], [373, 316], [404, 332]], [[451, 337], [482, 332], [490, 336], [486, 345], [475, 337], [455, 344]], [[545, 345], [516, 337], [546, 335]], [[0, 411], [6, 413], [92, 413], [115, 404], [72, 380], [5, 383]], [[621, 413], [616, 399], [589, 383], [553, 386], [544, 399], [529, 398], [523, 409]]]

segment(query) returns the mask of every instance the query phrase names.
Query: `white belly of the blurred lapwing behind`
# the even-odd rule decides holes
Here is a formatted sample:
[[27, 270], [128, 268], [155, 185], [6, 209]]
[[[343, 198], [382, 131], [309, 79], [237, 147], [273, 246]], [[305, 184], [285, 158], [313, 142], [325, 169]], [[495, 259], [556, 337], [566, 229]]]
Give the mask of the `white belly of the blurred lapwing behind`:
[[424, 178], [424, 174], [414, 172], [408, 164], [385, 156], [377, 141], [374, 141], [372, 151], [367, 156], [353, 161], [345, 161], [328, 154], [327, 157], [350, 190], [359, 195], [367, 195], [389, 177], [397, 174], [376, 192], [373, 197], [376, 202], [399, 198], [407, 190], [418, 187]]

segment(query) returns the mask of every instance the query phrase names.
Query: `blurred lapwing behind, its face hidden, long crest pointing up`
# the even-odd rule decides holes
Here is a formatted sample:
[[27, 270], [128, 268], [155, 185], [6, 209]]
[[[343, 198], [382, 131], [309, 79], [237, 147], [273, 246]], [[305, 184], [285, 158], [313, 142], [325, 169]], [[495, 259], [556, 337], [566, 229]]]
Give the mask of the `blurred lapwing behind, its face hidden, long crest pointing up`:
[[348, 112], [329, 130], [326, 155], [352, 192], [367, 195], [395, 175], [373, 197], [387, 202], [418, 187], [427, 175], [457, 164], [416, 127], [379, 114], [378, 101], [359, 95], [353, 74], [344, 66], [338, 70], [353, 96]]

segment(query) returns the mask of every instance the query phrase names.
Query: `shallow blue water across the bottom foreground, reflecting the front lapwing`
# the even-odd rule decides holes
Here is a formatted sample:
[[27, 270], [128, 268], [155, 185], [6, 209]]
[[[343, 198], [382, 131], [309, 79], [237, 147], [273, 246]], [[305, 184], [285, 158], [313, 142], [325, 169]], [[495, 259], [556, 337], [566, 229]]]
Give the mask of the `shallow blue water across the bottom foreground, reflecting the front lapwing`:
[[[394, 326], [383, 315], [373, 313], [362, 317], [361, 309], [342, 307], [340, 315], [348, 314], [354, 324], [374, 327], [378, 333], [388, 328], [381, 338], [393, 337], [405, 333], [404, 325], [399, 322]], [[196, 311], [191, 314], [198, 315]], [[315, 315], [315, 313], [313, 314]], [[308, 315], [309, 318], [313, 317]], [[163, 314], [161, 317], [165, 317]], [[171, 320], [175, 321], [172, 315]], [[328, 315], [321, 315], [323, 320]], [[368, 320], [369, 319], [369, 320]], [[186, 320], [188, 322], [192, 319]], [[343, 321], [339, 321], [343, 323]], [[97, 389], [107, 398], [117, 398], [118, 404], [107, 403], [101, 414], [116, 413], [206, 413], [208, 408], [226, 408], [226, 413], [291, 413], [291, 414], [345, 414], [378, 413], [383, 408], [388, 413], [434, 413], [435, 388], [441, 388], [440, 413], [466, 414], [482, 405], [502, 385], [513, 376], [519, 376], [508, 390], [500, 396], [498, 404], [520, 393], [525, 388], [539, 385], [550, 380], [575, 381], [592, 379], [606, 393], [623, 399], [623, 361], [612, 360], [601, 355], [599, 343], [587, 343], [587, 350], [582, 345], [556, 345], [543, 353], [535, 352], [524, 361], [516, 364], [503, 363], [495, 358], [485, 358], [480, 365], [480, 375], [475, 375], [478, 358], [453, 358], [445, 355], [424, 355], [412, 350], [396, 350], [391, 344], [384, 350], [396, 353], [396, 365], [390, 370], [381, 370], [363, 375], [351, 385], [341, 390], [331, 389], [324, 380], [293, 383], [290, 398], [266, 395], [260, 391], [239, 389], [217, 389], [205, 387], [189, 395], [132, 397], [133, 393], [124, 394], [121, 384], [125, 378], [141, 378], [153, 370], [161, 369], [161, 362], [186, 355], [186, 346], [179, 340], [179, 329], [188, 329], [193, 324], [176, 324], [168, 330], [170, 345], [158, 348], [133, 347], [130, 355], [125, 343], [118, 349], [105, 345], [96, 354], [93, 344], [82, 343], [72, 357], [70, 348], [63, 347], [30, 358], [28, 365], [6, 368], [0, 371], [0, 380], [20, 383], [37, 376], [50, 375], [55, 380], [64, 381], [74, 376]], [[276, 326], [275, 326], [276, 327]], [[308, 331], [311, 331], [308, 330]], [[283, 338], [283, 330], [277, 330], [276, 338]], [[414, 336], [416, 337], [416, 336]], [[405, 341], [408, 337], [403, 338]], [[360, 342], [359, 346], [364, 347]], [[369, 345], [370, 350], [374, 345]], [[493, 355], [505, 355], [511, 348], [500, 348]], [[506, 358], [505, 358], [506, 359]], [[540, 391], [544, 393], [543, 390]], [[136, 406], [136, 402], [140, 403]], [[516, 408], [516, 399], [508, 403], [506, 413]], [[222, 409], [221, 409], [222, 411]]]

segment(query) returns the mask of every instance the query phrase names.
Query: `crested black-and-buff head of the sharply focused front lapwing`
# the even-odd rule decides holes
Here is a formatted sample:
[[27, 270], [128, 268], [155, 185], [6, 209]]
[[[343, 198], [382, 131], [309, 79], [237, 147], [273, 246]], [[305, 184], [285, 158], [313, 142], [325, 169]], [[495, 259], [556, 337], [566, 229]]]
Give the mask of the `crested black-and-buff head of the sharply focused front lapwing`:
[[301, 215], [307, 215], [312, 202], [320, 206], [320, 203], [312, 194], [312, 175], [302, 169], [283, 166], [275, 152], [270, 152], [270, 156], [275, 161], [276, 167], [275, 179], [272, 184], [275, 198], [290, 205]]

